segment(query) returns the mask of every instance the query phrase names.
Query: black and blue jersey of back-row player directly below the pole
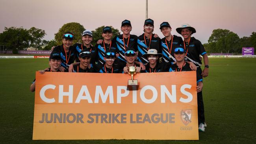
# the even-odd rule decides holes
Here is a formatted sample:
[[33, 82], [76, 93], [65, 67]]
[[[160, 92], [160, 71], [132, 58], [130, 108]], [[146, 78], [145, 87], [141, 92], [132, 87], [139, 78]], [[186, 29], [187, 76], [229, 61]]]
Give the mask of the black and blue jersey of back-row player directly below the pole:
[[149, 49], [156, 49], [158, 53], [161, 54], [161, 39], [159, 37], [154, 37], [152, 34], [151, 38], [148, 39], [145, 36], [145, 33], [138, 37], [138, 61], [146, 64], [148, 60], [145, 57], [142, 57], [143, 54], [147, 54]]

